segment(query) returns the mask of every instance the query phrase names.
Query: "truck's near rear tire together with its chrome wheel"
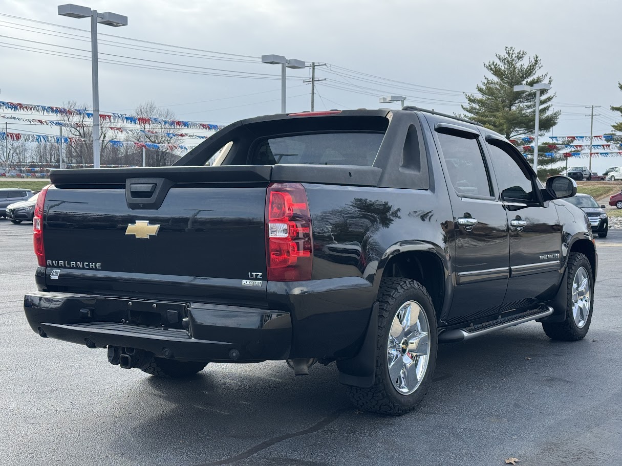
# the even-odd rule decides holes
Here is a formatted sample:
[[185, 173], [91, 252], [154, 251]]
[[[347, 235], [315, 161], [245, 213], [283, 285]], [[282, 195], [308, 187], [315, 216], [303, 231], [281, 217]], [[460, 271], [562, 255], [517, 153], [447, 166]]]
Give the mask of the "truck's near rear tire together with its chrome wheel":
[[[400, 416], [419, 406], [432, 383], [438, 346], [436, 315], [424, 286], [407, 278], [383, 278], [378, 304], [374, 385], [369, 388], [347, 385], [346, 390], [359, 409]], [[417, 309], [418, 318], [414, 313]], [[405, 319], [406, 328], [417, 332], [414, 337], [411, 333], [410, 339], [400, 322]], [[412, 351], [407, 343], [414, 345]], [[415, 351], [419, 354], [414, 354]]]

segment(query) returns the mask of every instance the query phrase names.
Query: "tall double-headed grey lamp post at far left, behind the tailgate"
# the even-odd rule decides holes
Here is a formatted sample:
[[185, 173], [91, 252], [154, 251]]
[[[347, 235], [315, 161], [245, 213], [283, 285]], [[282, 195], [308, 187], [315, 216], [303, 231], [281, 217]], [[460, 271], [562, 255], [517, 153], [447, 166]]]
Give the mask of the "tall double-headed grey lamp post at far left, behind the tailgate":
[[100, 168], [100, 78], [97, 66], [97, 23], [119, 27], [128, 17], [109, 11], [98, 13], [86, 6], [58, 5], [58, 14], [70, 18], [91, 18], [91, 75], [93, 79], [93, 168]]

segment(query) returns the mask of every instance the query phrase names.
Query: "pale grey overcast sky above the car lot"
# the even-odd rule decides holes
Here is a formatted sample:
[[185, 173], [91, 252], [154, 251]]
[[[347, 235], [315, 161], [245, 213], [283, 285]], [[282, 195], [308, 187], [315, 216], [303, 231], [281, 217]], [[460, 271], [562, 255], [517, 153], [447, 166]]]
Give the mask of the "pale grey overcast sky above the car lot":
[[[58, 16], [58, 3], [50, 0], [0, 0], [0, 13], [89, 29], [86, 19]], [[241, 76], [241, 71], [273, 75], [258, 80], [100, 63], [101, 111], [131, 113], [137, 104], [153, 100], [158, 106], [170, 107], [180, 119], [200, 122], [231, 122], [276, 113], [280, 111], [279, 67], [252, 58], [276, 53], [411, 84], [404, 88], [386, 81], [355, 81], [352, 76], [347, 76], [351, 71], [333, 67], [332, 71], [340, 73], [337, 75], [331, 70], [318, 68], [316, 77], [327, 81], [317, 85], [316, 110], [374, 108], [379, 106], [379, 96], [406, 94], [409, 104], [447, 113], [460, 112], [464, 98], [452, 91], [474, 91], [485, 75], [483, 63], [493, 59], [495, 53], [503, 52], [506, 45], [526, 50], [529, 55], [539, 55], [544, 71], [552, 76], [553, 89], [557, 93], [554, 104], [563, 112], [553, 130], [554, 135], [589, 134], [590, 118], [583, 116], [589, 111], [583, 106], [592, 104], [601, 106], [595, 111], [600, 116], [595, 118], [594, 133], [609, 131], [611, 122], [617, 121], [609, 106], [622, 104], [622, 92], [617, 85], [622, 80], [622, 60], [617, 51], [620, 28], [616, 25], [616, 19], [622, 17], [622, 2], [93, 0], [87, 6], [129, 17], [128, 26], [100, 25], [100, 33], [251, 57], [220, 55], [248, 60], [231, 62], [162, 55], [157, 50], [203, 56], [205, 52], [120, 42], [127, 47], [156, 49], [151, 52], [131, 50], [106, 45], [103, 39], [116, 39], [100, 35], [101, 60], [108, 58], [199, 73], [213, 72], [205, 68], [218, 68], [236, 71], [237, 76]], [[35, 33], [32, 27], [46, 29], [39, 30], [45, 34]], [[76, 34], [77, 37], [57, 37], [60, 32]], [[53, 106], [60, 106], [68, 100], [90, 103], [90, 62], [67, 56], [68, 53], [89, 56], [90, 42], [78, 40], [88, 39], [87, 32], [0, 16], [0, 35], [0, 45], [54, 50], [62, 55], [0, 47], [0, 63], [3, 65], [0, 100]], [[79, 48], [85, 52], [37, 42]], [[179, 64], [196, 68], [184, 68]], [[288, 77], [292, 79], [287, 83], [287, 111], [308, 110], [310, 87], [302, 80], [309, 78], [309, 69], [288, 70]], [[378, 78], [366, 79], [380, 81]], [[396, 104], [389, 105], [397, 108]], [[606, 168], [600, 167], [601, 164], [616, 164], [614, 160], [600, 162], [596, 165], [599, 170]], [[621, 163], [622, 158], [615, 162]]]

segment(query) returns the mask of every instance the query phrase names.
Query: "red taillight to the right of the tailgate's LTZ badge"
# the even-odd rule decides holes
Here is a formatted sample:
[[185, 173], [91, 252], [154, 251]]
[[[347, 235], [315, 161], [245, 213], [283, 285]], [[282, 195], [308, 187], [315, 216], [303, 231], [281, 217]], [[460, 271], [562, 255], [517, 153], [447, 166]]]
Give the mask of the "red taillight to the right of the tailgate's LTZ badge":
[[311, 214], [300, 183], [272, 183], [266, 194], [267, 278], [311, 280]]

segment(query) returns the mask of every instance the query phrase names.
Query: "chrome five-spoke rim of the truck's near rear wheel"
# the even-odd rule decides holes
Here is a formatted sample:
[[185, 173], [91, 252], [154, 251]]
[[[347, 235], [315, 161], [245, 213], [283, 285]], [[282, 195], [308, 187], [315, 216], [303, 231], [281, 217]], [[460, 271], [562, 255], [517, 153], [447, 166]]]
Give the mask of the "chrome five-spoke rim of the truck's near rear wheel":
[[398, 393], [410, 395], [419, 388], [429, 360], [427, 315], [419, 303], [406, 301], [393, 318], [387, 345], [389, 378]]

